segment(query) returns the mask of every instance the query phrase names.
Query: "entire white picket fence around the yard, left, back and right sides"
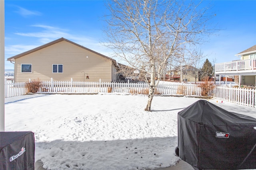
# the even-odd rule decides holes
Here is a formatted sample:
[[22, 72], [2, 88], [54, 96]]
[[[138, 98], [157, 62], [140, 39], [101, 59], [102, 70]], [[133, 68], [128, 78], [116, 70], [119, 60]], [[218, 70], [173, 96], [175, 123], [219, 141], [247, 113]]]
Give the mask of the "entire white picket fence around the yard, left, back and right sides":
[[[162, 95], [201, 95], [198, 84], [163, 82], [160, 81], [156, 88], [156, 94]], [[146, 83], [118, 83], [118, 82], [76, 82], [70, 81], [42, 81], [38, 92], [49, 93], [99, 93], [99, 92], [128, 92], [133, 94], [146, 94], [148, 84]], [[27, 94], [26, 83], [5, 83], [5, 98]], [[223, 100], [250, 107], [256, 107], [256, 90], [246, 88], [234, 88], [230, 86], [216, 86], [210, 94], [217, 100]]]

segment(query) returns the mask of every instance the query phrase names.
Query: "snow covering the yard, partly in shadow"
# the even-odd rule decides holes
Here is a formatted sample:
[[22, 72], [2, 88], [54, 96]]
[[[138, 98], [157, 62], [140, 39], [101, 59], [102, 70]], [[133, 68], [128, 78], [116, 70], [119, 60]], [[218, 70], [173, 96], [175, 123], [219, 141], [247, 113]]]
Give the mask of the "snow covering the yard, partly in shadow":
[[[29, 98], [26, 98], [29, 97]], [[198, 98], [127, 94], [29, 95], [6, 98], [5, 131], [33, 131], [35, 161], [44, 168], [156, 169], [178, 161], [177, 113]], [[256, 109], [210, 102], [256, 117]]]

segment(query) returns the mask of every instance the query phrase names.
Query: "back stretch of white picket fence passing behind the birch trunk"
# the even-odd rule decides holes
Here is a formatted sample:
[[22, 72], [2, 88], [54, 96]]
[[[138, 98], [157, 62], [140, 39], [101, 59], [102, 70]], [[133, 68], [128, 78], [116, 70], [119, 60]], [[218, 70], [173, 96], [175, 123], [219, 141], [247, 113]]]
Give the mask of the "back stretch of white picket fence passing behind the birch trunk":
[[[75, 82], [70, 81], [43, 81], [39, 92], [73, 92], [73, 93], [99, 93], [99, 92], [128, 92], [134, 94], [145, 94], [148, 90], [146, 83], [120, 83], [120, 82]], [[197, 84], [185, 84], [174, 82], [160, 82], [156, 88], [156, 94], [176, 95], [201, 94]]]

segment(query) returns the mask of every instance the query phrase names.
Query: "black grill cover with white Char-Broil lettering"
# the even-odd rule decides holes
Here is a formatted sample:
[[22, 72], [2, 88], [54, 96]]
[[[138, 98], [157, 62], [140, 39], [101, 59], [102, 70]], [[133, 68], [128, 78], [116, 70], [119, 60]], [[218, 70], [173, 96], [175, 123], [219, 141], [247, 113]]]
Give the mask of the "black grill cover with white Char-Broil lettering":
[[0, 132], [0, 170], [34, 170], [33, 132]]

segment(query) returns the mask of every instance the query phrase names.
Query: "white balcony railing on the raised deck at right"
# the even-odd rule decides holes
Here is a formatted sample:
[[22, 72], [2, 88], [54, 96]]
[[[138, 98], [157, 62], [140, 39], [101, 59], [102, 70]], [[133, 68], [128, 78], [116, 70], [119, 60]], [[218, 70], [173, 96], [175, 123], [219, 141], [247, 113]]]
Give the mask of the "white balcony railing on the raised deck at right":
[[215, 72], [256, 72], [256, 59], [238, 60], [215, 64]]

